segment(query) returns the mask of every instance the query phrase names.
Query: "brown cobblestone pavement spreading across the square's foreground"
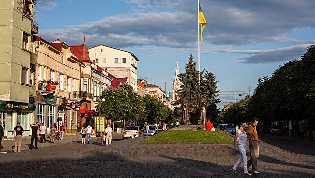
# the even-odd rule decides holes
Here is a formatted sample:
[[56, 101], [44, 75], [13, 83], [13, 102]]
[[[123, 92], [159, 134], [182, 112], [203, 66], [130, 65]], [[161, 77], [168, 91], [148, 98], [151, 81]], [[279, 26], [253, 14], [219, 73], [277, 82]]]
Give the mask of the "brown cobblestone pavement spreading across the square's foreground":
[[[145, 137], [114, 141], [100, 146], [70, 142], [0, 154], [2, 177], [245, 177], [240, 165], [237, 175], [230, 170], [239, 158], [232, 145], [137, 144]], [[287, 142], [263, 136], [258, 141], [258, 175], [251, 177], [315, 177], [315, 156], [310, 145], [305, 153], [281, 149]], [[280, 145], [281, 144], [281, 145]], [[290, 146], [298, 147], [293, 142]], [[295, 144], [295, 145], [294, 145]], [[297, 149], [299, 150], [299, 149]], [[249, 153], [247, 153], [248, 155]], [[251, 168], [249, 168], [251, 170]], [[251, 172], [251, 171], [250, 171]]]

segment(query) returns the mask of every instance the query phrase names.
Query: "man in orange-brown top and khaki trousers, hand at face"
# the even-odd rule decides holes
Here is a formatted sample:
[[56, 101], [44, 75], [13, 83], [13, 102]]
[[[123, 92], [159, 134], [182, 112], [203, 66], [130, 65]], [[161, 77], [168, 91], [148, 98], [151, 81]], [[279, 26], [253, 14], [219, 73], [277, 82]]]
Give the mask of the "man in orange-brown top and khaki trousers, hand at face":
[[257, 144], [258, 135], [257, 135], [257, 126], [258, 118], [253, 118], [252, 123], [248, 126], [248, 144], [250, 151], [250, 159], [247, 161], [247, 167], [252, 166], [252, 173], [258, 174], [257, 171], [257, 159], [259, 157], [259, 146]]

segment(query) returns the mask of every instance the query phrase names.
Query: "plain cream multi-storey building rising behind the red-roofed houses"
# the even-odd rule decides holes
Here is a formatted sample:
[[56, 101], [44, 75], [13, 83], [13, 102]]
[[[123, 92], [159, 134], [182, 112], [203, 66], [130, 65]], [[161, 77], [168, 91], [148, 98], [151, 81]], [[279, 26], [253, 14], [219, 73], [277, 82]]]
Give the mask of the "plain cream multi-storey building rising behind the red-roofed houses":
[[95, 63], [107, 69], [117, 78], [126, 78], [127, 83], [137, 91], [138, 58], [131, 52], [113, 47], [98, 45], [88, 49], [89, 57]]

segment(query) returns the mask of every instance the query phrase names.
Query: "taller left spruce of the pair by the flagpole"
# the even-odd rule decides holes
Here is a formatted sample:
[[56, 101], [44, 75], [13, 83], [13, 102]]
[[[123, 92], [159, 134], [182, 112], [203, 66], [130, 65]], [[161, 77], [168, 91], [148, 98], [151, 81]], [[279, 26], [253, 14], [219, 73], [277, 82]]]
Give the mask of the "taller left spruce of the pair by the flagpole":
[[196, 62], [193, 61], [192, 54], [190, 54], [190, 57], [188, 58], [185, 70], [185, 73], [180, 73], [178, 75], [179, 81], [183, 83], [178, 92], [181, 95], [181, 98], [188, 94], [189, 100], [197, 103], [201, 90], [198, 81], [199, 72], [196, 70]]

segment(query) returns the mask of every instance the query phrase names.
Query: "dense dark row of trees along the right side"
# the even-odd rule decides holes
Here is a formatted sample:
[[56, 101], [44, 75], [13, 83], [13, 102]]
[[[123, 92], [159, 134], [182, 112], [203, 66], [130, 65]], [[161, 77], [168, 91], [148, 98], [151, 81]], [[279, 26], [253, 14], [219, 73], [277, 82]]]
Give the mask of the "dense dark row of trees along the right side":
[[252, 97], [233, 104], [226, 122], [243, 122], [258, 117], [262, 121], [308, 119], [314, 129], [315, 45], [307, 48], [300, 60], [289, 61], [262, 77]]

